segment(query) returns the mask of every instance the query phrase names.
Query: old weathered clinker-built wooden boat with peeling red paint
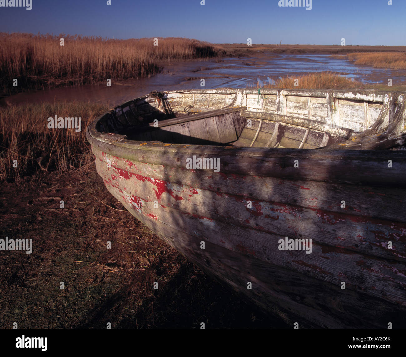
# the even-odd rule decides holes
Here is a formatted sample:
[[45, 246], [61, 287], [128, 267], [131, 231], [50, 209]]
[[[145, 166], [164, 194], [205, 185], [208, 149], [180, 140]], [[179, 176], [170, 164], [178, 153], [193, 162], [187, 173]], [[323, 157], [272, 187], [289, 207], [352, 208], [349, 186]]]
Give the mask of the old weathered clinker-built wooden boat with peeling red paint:
[[106, 188], [299, 328], [405, 328], [405, 94], [151, 92], [87, 130]]

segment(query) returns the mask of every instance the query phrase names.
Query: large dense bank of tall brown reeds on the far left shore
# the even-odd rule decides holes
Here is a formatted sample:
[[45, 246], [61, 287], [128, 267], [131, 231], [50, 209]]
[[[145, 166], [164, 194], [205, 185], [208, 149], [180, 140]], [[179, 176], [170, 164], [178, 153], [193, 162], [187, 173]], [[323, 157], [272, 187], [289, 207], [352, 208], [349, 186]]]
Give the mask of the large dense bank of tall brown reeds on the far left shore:
[[[63, 38], [65, 45], [60, 45]], [[114, 40], [79, 35], [0, 33], [3, 95], [155, 74], [160, 62], [217, 56], [220, 49], [185, 38]], [[18, 86], [13, 86], [13, 79]]]

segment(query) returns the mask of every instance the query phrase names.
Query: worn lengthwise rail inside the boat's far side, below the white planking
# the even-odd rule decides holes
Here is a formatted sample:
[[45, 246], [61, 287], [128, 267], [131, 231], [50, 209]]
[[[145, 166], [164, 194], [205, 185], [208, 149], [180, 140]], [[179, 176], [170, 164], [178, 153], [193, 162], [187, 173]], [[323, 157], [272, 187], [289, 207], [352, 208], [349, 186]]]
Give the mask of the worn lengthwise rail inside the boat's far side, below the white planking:
[[268, 119], [272, 121], [280, 121], [286, 124], [298, 125], [304, 128], [310, 128], [315, 130], [320, 130], [322, 132], [331, 132], [337, 136], [341, 136], [343, 138], [349, 138], [352, 134], [351, 129], [346, 128], [334, 128], [334, 127], [326, 127], [325, 123], [316, 121], [316, 120], [309, 120], [304, 118], [292, 117], [288, 115], [280, 115], [280, 114], [272, 114], [272, 113], [253, 113], [247, 110], [241, 112], [243, 117], [247, 118], [257, 118], [257, 119]]

